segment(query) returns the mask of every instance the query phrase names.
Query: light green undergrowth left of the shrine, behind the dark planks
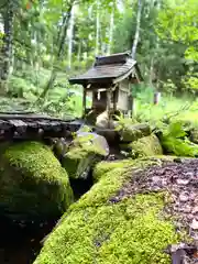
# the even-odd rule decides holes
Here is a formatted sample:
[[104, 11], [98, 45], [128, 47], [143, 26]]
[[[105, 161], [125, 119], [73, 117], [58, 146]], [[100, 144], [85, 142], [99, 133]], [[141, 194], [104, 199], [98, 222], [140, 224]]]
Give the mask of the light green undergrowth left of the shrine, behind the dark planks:
[[[81, 89], [77, 86], [72, 87], [68, 84], [67, 76], [63, 73], [58, 73], [54, 88], [50, 90], [45, 100], [42, 103], [37, 102], [36, 99], [42, 92], [48, 76], [50, 70], [42, 68], [38, 74], [35, 74], [26, 65], [26, 69], [18, 70], [11, 76], [8, 90], [9, 98], [15, 98], [19, 105], [21, 100], [25, 101], [22, 109], [31, 108], [33, 111], [61, 118], [80, 117], [82, 109]], [[9, 98], [8, 101], [10, 101]]]

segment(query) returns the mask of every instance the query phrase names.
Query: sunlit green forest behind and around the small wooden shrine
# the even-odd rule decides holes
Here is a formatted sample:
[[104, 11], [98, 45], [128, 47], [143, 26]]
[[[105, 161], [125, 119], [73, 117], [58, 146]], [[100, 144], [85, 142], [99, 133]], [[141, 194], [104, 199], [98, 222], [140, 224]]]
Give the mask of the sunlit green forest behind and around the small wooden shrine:
[[79, 117], [81, 87], [68, 78], [125, 51], [144, 78], [132, 88], [136, 116], [197, 120], [197, 0], [1, 0], [0, 110]]

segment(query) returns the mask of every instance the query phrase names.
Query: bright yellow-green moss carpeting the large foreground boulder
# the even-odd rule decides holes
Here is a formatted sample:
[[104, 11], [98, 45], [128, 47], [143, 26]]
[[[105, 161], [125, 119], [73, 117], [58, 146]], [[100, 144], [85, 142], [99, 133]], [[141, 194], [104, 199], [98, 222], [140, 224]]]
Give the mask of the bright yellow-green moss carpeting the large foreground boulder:
[[163, 250], [178, 237], [163, 218], [163, 194], [108, 201], [131, 169], [112, 169], [74, 204], [34, 264], [169, 264]]

